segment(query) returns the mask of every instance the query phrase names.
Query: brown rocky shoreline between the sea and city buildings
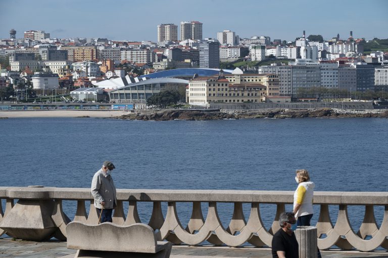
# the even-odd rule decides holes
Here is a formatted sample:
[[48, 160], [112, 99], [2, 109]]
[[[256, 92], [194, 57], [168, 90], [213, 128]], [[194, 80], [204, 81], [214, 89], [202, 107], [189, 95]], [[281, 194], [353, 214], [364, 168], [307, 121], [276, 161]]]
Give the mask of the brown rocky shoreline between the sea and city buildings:
[[256, 109], [256, 110], [230, 110], [221, 109], [218, 111], [190, 110], [190, 109], [168, 109], [168, 110], [144, 110], [137, 113], [125, 114], [117, 119], [128, 120], [219, 120], [219, 119], [251, 119], [251, 118], [334, 118], [334, 117], [383, 117], [388, 118], [388, 110], [348, 110], [334, 108], [317, 109]]

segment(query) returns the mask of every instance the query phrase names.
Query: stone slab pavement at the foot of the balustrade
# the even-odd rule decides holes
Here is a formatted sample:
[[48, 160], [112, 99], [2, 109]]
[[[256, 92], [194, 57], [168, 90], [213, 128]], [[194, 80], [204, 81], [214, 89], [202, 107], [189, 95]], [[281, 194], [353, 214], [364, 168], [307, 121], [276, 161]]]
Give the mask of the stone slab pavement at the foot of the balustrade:
[[[73, 258], [76, 250], [67, 249], [65, 241], [32, 242], [0, 238], [0, 258]], [[360, 251], [321, 251], [324, 258], [369, 258], [388, 257], [388, 251], [360, 252]], [[171, 258], [271, 258], [270, 248], [254, 247], [210, 247], [174, 245]]]

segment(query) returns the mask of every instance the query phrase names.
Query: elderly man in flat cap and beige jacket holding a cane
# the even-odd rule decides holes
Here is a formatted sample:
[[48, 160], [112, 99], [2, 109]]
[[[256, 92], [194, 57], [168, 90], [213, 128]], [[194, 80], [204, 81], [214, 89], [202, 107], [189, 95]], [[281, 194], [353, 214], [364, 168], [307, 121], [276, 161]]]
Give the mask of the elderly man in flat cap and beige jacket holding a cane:
[[112, 162], [104, 161], [103, 167], [95, 172], [91, 180], [91, 195], [101, 223], [112, 222], [112, 211], [117, 205], [116, 187], [111, 176], [114, 168]]

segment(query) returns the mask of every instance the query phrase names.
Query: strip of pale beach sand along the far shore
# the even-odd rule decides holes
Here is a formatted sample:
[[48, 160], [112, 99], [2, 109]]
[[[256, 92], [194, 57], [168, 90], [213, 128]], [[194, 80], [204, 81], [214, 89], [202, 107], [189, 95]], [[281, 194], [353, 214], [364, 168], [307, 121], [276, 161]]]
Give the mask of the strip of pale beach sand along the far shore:
[[130, 114], [126, 110], [8, 110], [0, 111], [0, 118], [19, 118], [19, 117], [119, 117]]

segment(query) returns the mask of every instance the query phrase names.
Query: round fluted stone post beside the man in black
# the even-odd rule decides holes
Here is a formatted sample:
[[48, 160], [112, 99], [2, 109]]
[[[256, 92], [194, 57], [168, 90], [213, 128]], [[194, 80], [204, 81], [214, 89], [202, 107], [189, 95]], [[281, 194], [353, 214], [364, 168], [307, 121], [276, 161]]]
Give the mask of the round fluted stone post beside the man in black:
[[299, 258], [317, 258], [317, 228], [299, 226], [295, 235], [299, 243]]

